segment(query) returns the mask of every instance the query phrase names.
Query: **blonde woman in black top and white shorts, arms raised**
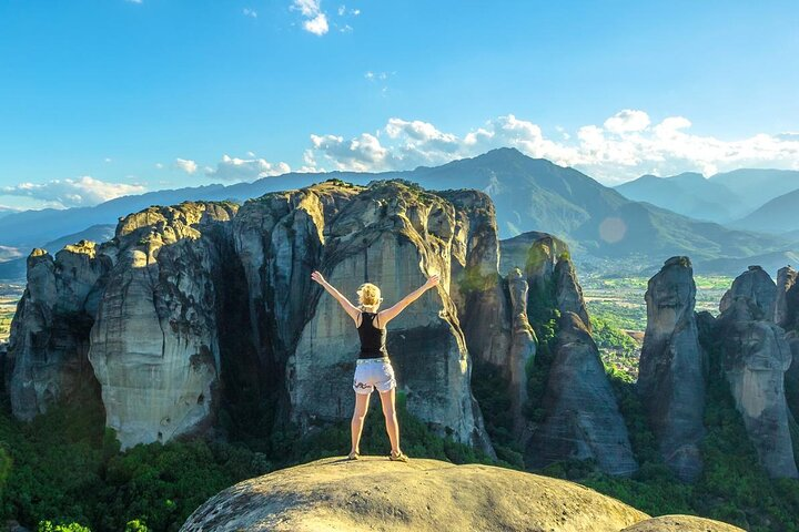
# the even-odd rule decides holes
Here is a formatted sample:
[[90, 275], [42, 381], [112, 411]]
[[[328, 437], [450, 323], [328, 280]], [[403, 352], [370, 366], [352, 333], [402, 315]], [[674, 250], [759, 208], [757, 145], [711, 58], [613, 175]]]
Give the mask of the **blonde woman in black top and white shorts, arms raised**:
[[383, 298], [380, 288], [372, 283], [364, 283], [357, 290], [358, 306], [350, 300], [327, 283], [322, 274], [314, 272], [311, 278], [322, 285], [341, 304], [344, 310], [355, 321], [358, 336], [361, 337], [361, 352], [355, 366], [355, 378], [353, 390], [355, 390], [355, 411], [352, 418], [352, 448], [347, 458], [357, 460], [361, 456], [358, 444], [363, 430], [366, 409], [372, 391], [377, 388], [383, 405], [383, 416], [386, 420], [386, 432], [391, 441], [391, 460], [407, 462], [407, 457], [400, 450], [400, 426], [397, 424], [396, 410], [394, 408], [396, 380], [394, 368], [388, 359], [388, 351], [385, 347], [385, 326], [396, 318], [405, 307], [424, 294], [427, 289], [438, 284], [438, 276], [431, 276], [427, 282], [414, 291], [403, 297], [400, 303], [385, 310], [377, 311]]

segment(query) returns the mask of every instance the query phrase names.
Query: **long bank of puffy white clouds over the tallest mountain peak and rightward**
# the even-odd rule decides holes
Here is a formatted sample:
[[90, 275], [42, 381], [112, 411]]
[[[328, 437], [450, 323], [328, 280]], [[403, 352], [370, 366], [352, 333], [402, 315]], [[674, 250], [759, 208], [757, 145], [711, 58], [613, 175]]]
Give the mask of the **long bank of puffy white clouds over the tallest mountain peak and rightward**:
[[[374, 72], [365, 75], [370, 80], [376, 76]], [[685, 116], [653, 123], [646, 112], [629, 109], [601, 125], [577, 127], [574, 134], [557, 126], [552, 139], [539, 125], [513, 114], [488, 120], [463, 135], [428, 122], [392, 117], [374, 134], [362, 133], [351, 140], [313, 134], [304, 160], [309, 168], [324, 163], [335, 170], [406, 170], [514, 146], [532, 157], [574, 166], [607, 184], [645, 173], [699, 171], [708, 175], [739, 167], [799, 167], [799, 135], [793, 132], [721, 141], [691, 134], [690, 127]]]

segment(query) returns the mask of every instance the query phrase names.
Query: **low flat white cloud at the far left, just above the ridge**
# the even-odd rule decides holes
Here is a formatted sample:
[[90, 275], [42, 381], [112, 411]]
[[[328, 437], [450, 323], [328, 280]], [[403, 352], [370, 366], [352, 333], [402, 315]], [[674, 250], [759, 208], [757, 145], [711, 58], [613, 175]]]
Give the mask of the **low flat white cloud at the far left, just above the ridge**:
[[20, 183], [0, 188], [0, 194], [32, 197], [54, 207], [97, 205], [114, 197], [144, 192], [139, 184], [108, 183], [84, 175], [77, 180], [53, 180], [47, 183]]

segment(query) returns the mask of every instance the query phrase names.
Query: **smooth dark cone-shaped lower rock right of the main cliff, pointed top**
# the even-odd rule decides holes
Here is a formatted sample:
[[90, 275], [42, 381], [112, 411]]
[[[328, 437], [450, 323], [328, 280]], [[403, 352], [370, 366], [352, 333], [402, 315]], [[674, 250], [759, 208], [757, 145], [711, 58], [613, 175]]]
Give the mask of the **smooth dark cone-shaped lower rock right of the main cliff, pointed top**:
[[590, 331], [570, 311], [562, 315], [558, 325], [542, 406], [546, 416], [533, 433], [527, 456], [537, 467], [591, 459], [607, 473], [630, 475], [638, 464]]

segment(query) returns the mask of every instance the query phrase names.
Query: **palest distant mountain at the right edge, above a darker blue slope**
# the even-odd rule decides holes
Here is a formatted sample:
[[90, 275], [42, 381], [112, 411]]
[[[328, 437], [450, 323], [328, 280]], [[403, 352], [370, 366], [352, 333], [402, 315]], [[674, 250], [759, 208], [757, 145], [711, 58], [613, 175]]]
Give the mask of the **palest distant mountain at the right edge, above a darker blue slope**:
[[799, 188], [799, 171], [741, 168], [716, 174], [709, 181], [732, 191], [751, 206], [751, 212], [766, 202]]

